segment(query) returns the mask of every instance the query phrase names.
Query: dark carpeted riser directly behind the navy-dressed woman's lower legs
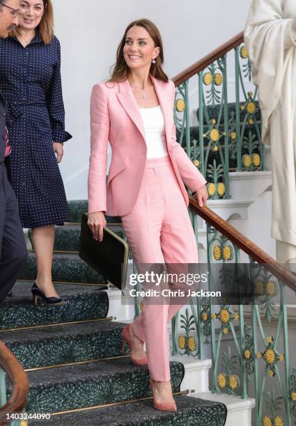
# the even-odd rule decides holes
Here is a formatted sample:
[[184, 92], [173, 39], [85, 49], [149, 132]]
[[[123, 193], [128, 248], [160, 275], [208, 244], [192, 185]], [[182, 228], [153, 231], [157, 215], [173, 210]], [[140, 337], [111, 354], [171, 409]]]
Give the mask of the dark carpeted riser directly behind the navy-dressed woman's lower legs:
[[[36, 278], [36, 257], [35, 253], [31, 252], [28, 255], [28, 260], [20, 279], [34, 280]], [[104, 277], [94, 269], [86, 265], [79, 258], [78, 254], [71, 253], [54, 253], [52, 265], [52, 280], [69, 283], [104, 283]]]

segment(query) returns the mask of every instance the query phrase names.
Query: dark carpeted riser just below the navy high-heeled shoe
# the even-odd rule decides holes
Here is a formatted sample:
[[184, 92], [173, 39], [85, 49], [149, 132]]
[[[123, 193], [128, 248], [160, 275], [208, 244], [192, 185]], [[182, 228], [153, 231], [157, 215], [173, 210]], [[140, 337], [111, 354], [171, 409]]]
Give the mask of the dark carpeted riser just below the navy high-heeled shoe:
[[[0, 310], [0, 329], [100, 319], [107, 316], [109, 299], [107, 293], [102, 290], [69, 295], [67, 300], [68, 303], [63, 306], [47, 306], [45, 303], [34, 306], [33, 299], [28, 296], [20, 303], [4, 303]], [[0, 338], [5, 339], [5, 333], [0, 334]]]

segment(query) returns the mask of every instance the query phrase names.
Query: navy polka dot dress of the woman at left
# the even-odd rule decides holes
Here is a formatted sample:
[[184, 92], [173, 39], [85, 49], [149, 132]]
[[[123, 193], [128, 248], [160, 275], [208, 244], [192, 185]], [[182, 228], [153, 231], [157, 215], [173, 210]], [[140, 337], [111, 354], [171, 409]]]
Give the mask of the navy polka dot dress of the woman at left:
[[17, 38], [0, 39], [0, 52], [0, 91], [22, 226], [62, 225], [70, 215], [52, 143], [72, 136], [65, 132], [59, 40], [44, 45], [37, 35], [23, 47]]

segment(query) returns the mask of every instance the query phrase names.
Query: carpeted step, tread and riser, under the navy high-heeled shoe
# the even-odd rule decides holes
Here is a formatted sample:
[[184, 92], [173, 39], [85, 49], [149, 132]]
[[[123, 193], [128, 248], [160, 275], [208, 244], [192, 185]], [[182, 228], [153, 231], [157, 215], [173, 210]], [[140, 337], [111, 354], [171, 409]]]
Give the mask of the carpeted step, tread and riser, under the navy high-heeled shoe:
[[57, 292], [65, 295], [68, 303], [47, 306], [41, 302], [34, 306], [31, 286], [32, 283], [19, 282], [13, 287], [13, 297], [7, 297], [0, 309], [1, 330], [107, 316], [109, 298], [104, 287], [56, 284]]

